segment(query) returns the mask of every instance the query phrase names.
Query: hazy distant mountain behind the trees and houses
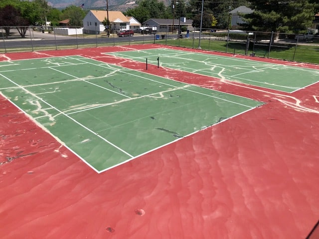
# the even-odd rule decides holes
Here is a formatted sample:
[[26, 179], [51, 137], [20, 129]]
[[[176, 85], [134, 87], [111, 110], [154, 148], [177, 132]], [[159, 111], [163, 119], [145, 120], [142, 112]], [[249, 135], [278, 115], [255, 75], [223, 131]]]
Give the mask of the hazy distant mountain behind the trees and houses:
[[[170, 0], [160, 0], [170, 4]], [[109, 10], [126, 11], [136, 6], [136, 0], [108, 0]], [[106, 9], [106, 0], [48, 0], [48, 4], [55, 8], [65, 8], [69, 5], [80, 6], [86, 9]]]

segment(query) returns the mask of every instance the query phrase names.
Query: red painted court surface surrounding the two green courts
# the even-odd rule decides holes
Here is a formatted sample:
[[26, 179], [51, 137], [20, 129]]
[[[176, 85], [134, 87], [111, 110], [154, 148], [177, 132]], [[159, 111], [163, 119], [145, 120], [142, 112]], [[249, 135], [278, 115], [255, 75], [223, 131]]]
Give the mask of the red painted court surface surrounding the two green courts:
[[0, 95], [1, 239], [307, 238], [319, 219], [319, 83], [289, 94], [105, 55], [155, 47], [0, 60], [81, 55], [266, 104], [98, 174]]

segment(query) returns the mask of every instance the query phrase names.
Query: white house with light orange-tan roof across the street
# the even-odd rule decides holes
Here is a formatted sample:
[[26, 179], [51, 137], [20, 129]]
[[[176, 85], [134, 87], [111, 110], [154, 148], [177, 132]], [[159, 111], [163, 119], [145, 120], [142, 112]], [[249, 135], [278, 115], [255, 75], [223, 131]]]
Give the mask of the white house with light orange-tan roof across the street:
[[103, 21], [109, 16], [111, 30], [129, 30], [130, 19], [121, 11], [90, 10], [83, 18], [83, 33], [100, 34], [105, 30]]

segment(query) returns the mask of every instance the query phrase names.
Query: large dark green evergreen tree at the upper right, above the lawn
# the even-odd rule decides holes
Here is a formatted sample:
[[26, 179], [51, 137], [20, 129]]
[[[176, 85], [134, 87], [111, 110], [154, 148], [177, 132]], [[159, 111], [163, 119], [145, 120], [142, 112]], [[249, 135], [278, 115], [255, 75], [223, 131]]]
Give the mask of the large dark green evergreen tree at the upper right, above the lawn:
[[312, 26], [315, 3], [309, 0], [252, 0], [251, 14], [243, 15], [247, 30], [299, 33]]

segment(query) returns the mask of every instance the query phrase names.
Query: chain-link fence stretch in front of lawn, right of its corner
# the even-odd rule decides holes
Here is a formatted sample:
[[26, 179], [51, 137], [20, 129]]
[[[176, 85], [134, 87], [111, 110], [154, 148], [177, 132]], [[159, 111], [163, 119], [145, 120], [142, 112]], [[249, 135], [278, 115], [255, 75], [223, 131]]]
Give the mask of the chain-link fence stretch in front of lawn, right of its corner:
[[[162, 44], [319, 64], [319, 35], [202, 29]], [[158, 42], [159, 43], [159, 42]]]

